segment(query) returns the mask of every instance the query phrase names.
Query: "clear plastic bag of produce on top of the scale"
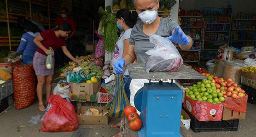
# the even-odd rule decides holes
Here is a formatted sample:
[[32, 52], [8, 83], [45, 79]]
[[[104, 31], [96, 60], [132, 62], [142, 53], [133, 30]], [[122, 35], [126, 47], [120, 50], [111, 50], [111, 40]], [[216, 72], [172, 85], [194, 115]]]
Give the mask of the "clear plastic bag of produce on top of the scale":
[[146, 62], [146, 72], [179, 71], [183, 59], [172, 42], [164, 37], [152, 33], [149, 37], [154, 49], [148, 50], [150, 55]]

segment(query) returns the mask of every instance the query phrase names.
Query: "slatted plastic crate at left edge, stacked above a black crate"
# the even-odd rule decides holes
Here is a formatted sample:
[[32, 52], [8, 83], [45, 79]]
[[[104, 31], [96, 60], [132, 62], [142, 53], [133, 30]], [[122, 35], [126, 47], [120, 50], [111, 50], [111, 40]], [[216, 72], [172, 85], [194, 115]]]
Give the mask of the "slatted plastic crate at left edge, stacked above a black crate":
[[13, 81], [8, 80], [3, 84], [0, 84], [0, 100], [13, 94]]

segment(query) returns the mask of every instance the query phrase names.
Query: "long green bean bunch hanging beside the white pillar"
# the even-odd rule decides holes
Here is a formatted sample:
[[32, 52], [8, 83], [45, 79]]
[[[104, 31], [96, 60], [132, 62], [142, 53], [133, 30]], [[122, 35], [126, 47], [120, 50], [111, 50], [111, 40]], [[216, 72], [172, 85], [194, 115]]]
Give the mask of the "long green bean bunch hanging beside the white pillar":
[[111, 13], [111, 7], [107, 6], [105, 11], [102, 7], [99, 8], [99, 13], [102, 15], [101, 23], [104, 27], [103, 43], [105, 50], [109, 53], [115, 50], [115, 43], [118, 40], [116, 18]]

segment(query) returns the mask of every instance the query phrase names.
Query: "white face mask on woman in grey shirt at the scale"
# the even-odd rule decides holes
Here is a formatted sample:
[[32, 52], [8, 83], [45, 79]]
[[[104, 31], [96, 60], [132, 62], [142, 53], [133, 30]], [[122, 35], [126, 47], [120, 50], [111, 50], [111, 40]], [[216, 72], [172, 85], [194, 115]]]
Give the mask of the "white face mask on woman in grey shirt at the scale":
[[141, 13], [138, 13], [139, 18], [141, 21], [145, 24], [151, 24], [156, 20], [157, 17], [157, 11], [156, 10], [146, 10]]

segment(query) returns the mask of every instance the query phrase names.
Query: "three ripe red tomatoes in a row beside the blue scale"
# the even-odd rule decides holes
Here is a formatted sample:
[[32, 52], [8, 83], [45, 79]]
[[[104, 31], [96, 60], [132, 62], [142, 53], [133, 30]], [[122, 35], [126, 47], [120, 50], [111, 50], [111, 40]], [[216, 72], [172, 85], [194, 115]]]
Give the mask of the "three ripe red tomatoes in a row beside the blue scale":
[[128, 121], [130, 122], [130, 128], [133, 131], [138, 131], [142, 127], [142, 121], [139, 119], [139, 115], [136, 113], [135, 107], [127, 106], [124, 109], [124, 114], [126, 115]]

